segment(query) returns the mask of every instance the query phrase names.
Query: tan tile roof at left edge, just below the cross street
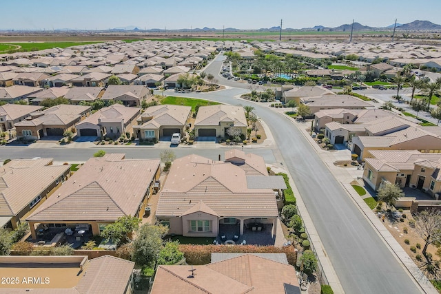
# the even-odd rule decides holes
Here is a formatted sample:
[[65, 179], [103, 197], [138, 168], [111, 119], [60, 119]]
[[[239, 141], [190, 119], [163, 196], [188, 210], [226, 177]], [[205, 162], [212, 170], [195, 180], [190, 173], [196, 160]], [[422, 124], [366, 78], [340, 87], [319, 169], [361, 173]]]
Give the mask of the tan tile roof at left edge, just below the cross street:
[[52, 158], [14, 159], [0, 170], [0, 216], [17, 215], [69, 169]]

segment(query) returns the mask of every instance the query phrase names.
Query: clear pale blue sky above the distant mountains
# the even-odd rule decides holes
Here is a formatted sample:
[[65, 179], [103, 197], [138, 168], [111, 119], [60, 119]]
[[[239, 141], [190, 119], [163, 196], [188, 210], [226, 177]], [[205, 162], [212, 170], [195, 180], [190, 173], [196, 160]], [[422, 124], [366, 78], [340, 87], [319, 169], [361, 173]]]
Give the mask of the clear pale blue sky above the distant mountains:
[[416, 19], [441, 24], [441, 0], [1, 0], [0, 29], [105, 30], [383, 27]]

